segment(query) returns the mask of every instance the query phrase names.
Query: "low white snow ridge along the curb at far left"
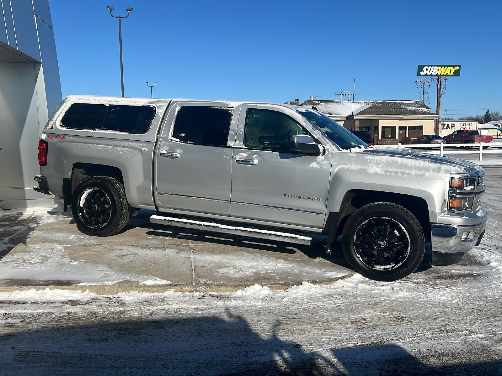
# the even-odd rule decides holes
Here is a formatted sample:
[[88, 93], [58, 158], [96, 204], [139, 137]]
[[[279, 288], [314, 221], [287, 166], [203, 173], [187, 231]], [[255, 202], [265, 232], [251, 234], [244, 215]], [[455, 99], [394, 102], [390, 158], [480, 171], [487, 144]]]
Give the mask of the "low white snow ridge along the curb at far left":
[[71, 290], [51, 290], [49, 287], [44, 290], [17, 290], [17, 291], [9, 291], [9, 292], [0, 292], [0, 301], [3, 302], [41, 302], [41, 301], [50, 301], [50, 302], [64, 302], [64, 301], [88, 301], [93, 299], [96, 296], [95, 293], [89, 292], [89, 290], [85, 291], [71, 291]]

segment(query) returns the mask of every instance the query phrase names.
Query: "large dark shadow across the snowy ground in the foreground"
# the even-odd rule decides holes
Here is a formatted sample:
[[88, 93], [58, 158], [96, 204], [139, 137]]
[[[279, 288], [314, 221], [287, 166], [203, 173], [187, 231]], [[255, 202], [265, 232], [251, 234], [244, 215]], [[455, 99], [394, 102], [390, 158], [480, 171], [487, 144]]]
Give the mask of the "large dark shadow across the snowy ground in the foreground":
[[500, 361], [430, 367], [392, 343], [321, 354], [282, 340], [278, 321], [264, 338], [243, 317], [227, 313], [228, 319], [74, 324], [3, 334], [0, 373], [458, 376], [499, 374], [502, 369]]

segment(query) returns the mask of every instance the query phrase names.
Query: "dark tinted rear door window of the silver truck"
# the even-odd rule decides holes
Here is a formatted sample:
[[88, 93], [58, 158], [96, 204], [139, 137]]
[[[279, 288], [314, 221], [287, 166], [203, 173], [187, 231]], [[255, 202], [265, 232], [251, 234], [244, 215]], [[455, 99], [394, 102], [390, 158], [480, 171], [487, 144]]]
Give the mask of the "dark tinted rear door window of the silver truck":
[[208, 146], [227, 146], [232, 108], [182, 106], [176, 114], [174, 141]]

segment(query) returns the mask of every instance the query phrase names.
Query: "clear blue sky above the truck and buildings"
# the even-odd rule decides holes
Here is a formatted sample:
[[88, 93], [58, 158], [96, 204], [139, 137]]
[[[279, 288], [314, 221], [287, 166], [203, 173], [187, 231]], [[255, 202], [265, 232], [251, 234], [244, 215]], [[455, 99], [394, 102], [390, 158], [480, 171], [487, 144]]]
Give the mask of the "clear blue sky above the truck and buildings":
[[149, 97], [145, 81], [157, 81], [160, 98], [336, 99], [355, 79], [356, 100], [419, 99], [418, 64], [460, 64], [441, 109], [502, 112], [500, 0], [50, 0], [63, 96], [120, 95], [108, 5], [134, 8], [122, 21], [126, 96]]

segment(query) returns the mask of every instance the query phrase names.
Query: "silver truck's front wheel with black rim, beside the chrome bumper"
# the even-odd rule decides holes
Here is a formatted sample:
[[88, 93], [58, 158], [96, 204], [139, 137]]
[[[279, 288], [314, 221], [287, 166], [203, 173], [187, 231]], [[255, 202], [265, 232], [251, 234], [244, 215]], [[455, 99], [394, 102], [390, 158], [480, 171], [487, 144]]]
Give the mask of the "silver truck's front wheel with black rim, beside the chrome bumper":
[[425, 238], [409, 210], [393, 203], [373, 203], [347, 220], [342, 247], [356, 272], [376, 281], [395, 281], [420, 265]]

